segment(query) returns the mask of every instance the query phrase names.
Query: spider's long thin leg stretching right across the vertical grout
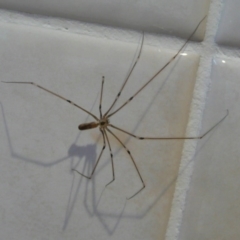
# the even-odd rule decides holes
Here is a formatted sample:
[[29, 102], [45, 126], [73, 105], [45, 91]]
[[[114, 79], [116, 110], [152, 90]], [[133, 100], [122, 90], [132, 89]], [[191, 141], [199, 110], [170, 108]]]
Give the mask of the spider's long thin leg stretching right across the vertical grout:
[[205, 137], [208, 133], [210, 133], [215, 127], [217, 127], [228, 115], [229, 111], [227, 110], [226, 115], [220, 119], [215, 125], [213, 125], [210, 129], [208, 129], [204, 134], [202, 134], [201, 136], [198, 137], [140, 137], [140, 136], [136, 136], [128, 131], [125, 131], [124, 129], [121, 129], [119, 127], [116, 127], [112, 124], [109, 124], [108, 126], [115, 128], [121, 132], [124, 132], [134, 138], [140, 139], [140, 140], [183, 140], [183, 139], [202, 139], [203, 137]]

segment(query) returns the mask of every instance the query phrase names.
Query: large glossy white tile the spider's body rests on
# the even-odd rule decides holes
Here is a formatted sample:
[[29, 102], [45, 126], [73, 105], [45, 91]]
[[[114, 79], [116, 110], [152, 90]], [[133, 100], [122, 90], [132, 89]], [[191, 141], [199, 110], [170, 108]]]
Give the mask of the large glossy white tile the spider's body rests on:
[[[129, 44], [19, 24], [0, 27], [4, 81], [34, 81], [96, 115], [102, 75], [106, 111], [142, 37]], [[174, 53], [144, 44], [118, 106]], [[111, 122], [140, 136], [183, 136], [198, 63], [196, 54], [177, 58]], [[89, 174], [102, 148], [98, 129], [77, 129], [92, 118], [31, 85], [1, 83], [0, 91], [2, 239], [164, 238], [183, 141], [140, 141], [116, 132], [146, 184], [127, 201], [141, 181], [114, 139], [114, 183], [105, 189], [112, 178], [108, 149], [91, 181], [71, 172], [77, 168]]]

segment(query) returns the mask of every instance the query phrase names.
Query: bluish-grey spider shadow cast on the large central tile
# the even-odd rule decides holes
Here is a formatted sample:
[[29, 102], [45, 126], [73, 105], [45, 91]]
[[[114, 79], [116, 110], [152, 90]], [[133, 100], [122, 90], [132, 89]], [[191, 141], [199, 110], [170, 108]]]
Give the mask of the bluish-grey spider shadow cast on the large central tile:
[[[173, 71], [173, 69], [175, 68], [175, 66], [177, 65], [179, 61], [179, 58], [177, 58], [176, 61], [174, 61], [174, 65], [171, 67], [171, 71]], [[148, 104], [148, 106], [145, 107], [143, 113], [142, 113], [142, 116], [140, 117], [139, 121], [136, 123], [132, 133], [135, 133], [137, 131], [137, 129], [139, 128], [142, 120], [144, 119], [144, 117], [148, 114], [148, 111], [150, 109], [150, 106], [154, 103], [154, 101], [156, 100], [157, 96], [161, 93], [163, 87], [165, 86], [165, 84], [167, 83], [168, 79], [170, 78], [170, 75], [171, 75], [171, 71], [169, 72], [169, 74], [167, 75], [167, 77], [164, 79], [164, 81], [162, 82], [162, 84], [160, 85], [158, 91], [156, 92], [156, 94], [152, 97], [152, 100], [150, 102], [150, 104]], [[97, 100], [97, 98], [96, 98]], [[96, 102], [95, 100], [95, 102]], [[95, 104], [95, 103], [94, 103]], [[93, 104], [93, 105], [94, 105]], [[29, 162], [29, 163], [33, 163], [33, 164], [37, 164], [39, 166], [42, 166], [42, 167], [51, 167], [55, 164], [58, 164], [58, 163], [61, 163], [63, 161], [66, 161], [66, 160], [69, 160], [70, 159], [70, 169], [73, 169], [75, 167], [77, 167], [80, 162], [85, 159], [85, 162], [84, 162], [84, 167], [82, 169], [82, 172], [89, 172], [93, 169], [93, 166], [96, 162], [96, 159], [97, 159], [97, 143], [96, 144], [88, 144], [86, 146], [78, 146], [77, 145], [77, 141], [80, 139], [81, 137], [81, 133], [79, 133], [75, 139], [75, 141], [72, 143], [72, 145], [69, 147], [68, 149], [68, 154], [60, 159], [56, 159], [56, 160], [53, 160], [49, 163], [43, 163], [42, 161], [40, 160], [35, 160], [35, 159], [30, 159], [30, 158], [27, 158], [27, 157], [24, 157], [22, 156], [21, 154], [18, 154], [14, 151], [14, 148], [13, 148], [13, 145], [12, 145], [12, 141], [11, 141], [11, 137], [10, 137], [10, 134], [9, 134], [9, 130], [8, 130], [8, 126], [7, 126], [7, 121], [6, 121], [6, 118], [5, 118], [5, 114], [4, 114], [4, 110], [3, 110], [3, 106], [1, 104], [1, 108], [2, 108], [2, 113], [3, 113], [3, 118], [4, 118], [4, 124], [5, 124], [5, 129], [6, 129], [6, 135], [7, 135], [7, 140], [8, 140], [8, 145], [9, 145], [9, 150], [10, 150], [10, 153], [11, 153], [11, 156], [13, 158], [17, 158], [17, 159], [20, 159], [20, 160], [23, 160], [25, 162]], [[87, 119], [88, 117], [86, 118], [86, 122], [87, 122]], [[100, 136], [100, 135], [99, 135]], [[100, 139], [100, 137], [97, 138], [97, 141]], [[131, 137], [129, 136], [125, 141], [124, 141], [124, 144], [127, 144], [129, 142], [129, 140], [131, 139]], [[116, 154], [118, 154], [118, 152], [122, 149], [122, 147], [119, 147], [118, 149], [116, 149], [114, 151], [114, 156]], [[77, 158], [77, 160], [76, 160]], [[109, 161], [105, 164], [102, 164], [101, 166], [98, 166], [97, 170], [96, 170], [96, 173], [100, 172], [101, 170], [103, 170], [104, 167], [107, 166], [107, 164], [109, 163]], [[96, 175], [95, 173], [95, 175]], [[73, 174], [73, 173], [72, 173]], [[94, 175], [94, 176], [95, 176]], [[158, 196], [156, 196], [156, 200], [152, 202], [151, 206], [146, 208], [144, 211], [142, 211], [140, 214], [132, 214], [132, 215], [129, 215], [129, 214], [124, 214], [123, 216], [123, 213], [124, 213], [124, 210], [125, 210], [125, 207], [127, 205], [127, 201], [125, 201], [123, 207], [122, 207], [122, 210], [120, 211], [119, 214], [109, 214], [109, 213], [104, 213], [104, 212], [101, 212], [99, 211], [98, 209], [98, 205], [101, 201], [101, 198], [102, 198], [102, 194], [105, 190], [105, 188], [102, 190], [102, 194], [100, 195], [100, 197], [97, 199], [97, 196], [96, 196], [96, 189], [95, 189], [95, 177], [93, 176], [93, 178], [90, 180], [91, 181], [91, 184], [92, 184], [92, 188], [91, 188], [91, 191], [92, 191], [92, 201], [91, 201], [91, 205], [93, 206], [92, 209], [89, 208], [89, 199], [88, 199], [88, 196], [89, 196], [89, 184], [90, 184], [90, 181], [87, 181], [86, 183], [86, 188], [85, 188], [85, 194], [84, 194], [84, 205], [85, 205], [85, 208], [89, 214], [89, 216], [93, 217], [93, 216], [96, 216], [99, 221], [101, 222], [101, 224], [104, 226], [105, 230], [108, 232], [109, 235], [112, 235], [118, 224], [120, 223], [120, 220], [123, 219], [123, 218], [143, 218], [149, 211], [150, 209], [157, 204], [157, 202], [159, 201], [159, 199], [161, 197], [164, 196], [164, 194], [166, 193], [166, 191], [174, 184], [174, 182], [176, 181], [177, 177], [174, 178], [168, 186], [166, 186], [160, 193]], [[77, 197], [78, 197], [78, 194], [80, 192], [80, 188], [83, 184], [83, 177], [82, 176], [78, 176], [78, 180], [76, 180], [76, 174], [73, 174], [73, 180], [72, 180], [72, 185], [71, 185], [71, 189], [70, 189], [70, 193], [69, 193], [69, 199], [68, 199], [68, 204], [67, 204], [67, 209], [66, 209], [66, 214], [65, 214], [65, 219], [64, 219], [64, 224], [63, 224], [63, 227], [62, 229], [65, 230], [68, 226], [68, 222], [69, 222], [69, 219], [72, 215], [72, 212], [73, 212], [73, 209], [74, 209], [74, 206], [76, 204], [76, 201], [77, 201]], [[75, 187], [76, 186], [76, 187]], [[114, 222], [113, 226], [110, 227], [110, 225], [108, 224], [108, 222], [106, 221], [107, 218], [110, 218], [111, 220], [112, 219], [116, 219], [116, 221]]]

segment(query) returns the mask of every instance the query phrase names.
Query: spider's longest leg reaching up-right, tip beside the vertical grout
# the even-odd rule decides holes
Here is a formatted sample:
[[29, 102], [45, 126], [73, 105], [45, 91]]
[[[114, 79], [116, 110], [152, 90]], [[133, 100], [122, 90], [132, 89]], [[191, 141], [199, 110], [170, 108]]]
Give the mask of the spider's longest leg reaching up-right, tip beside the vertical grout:
[[124, 106], [126, 106], [130, 101], [133, 100], [134, 97], [136, 97], [138, 95], [138, 93], [140, 93], [153, 79], [155, 79], [178, 55], [179, 53], [182, 51], [182, 49], [186, 46], [186, 44], [190, 41], [190, 39], [193, 37], [194, 33], [197, 31], [199, 25], [202, 23], [202, 21], [206, 18], [206, 16], [198, 23], [197, 27], [194, 29], [194, 31], [192, 32], [192, 34], [188, 37], [187, 41], [182, 45], [182, 47], [178, 50], [178, 52], [160, 69], [158, 70], [158, 72], [156, 72], [142, 87], [140, 87], [140, 89], [133, 94], [132, 97], [130, 97], [124, 104], [122, 104], [118, 109], [116, 109], [114, 112], [112, 112], [111, 114], [109, 114], [107, 117], [111, 117], [112, 115], [114, 115], [115, 113], [117, 113], [120, 109], [122, 109]]

